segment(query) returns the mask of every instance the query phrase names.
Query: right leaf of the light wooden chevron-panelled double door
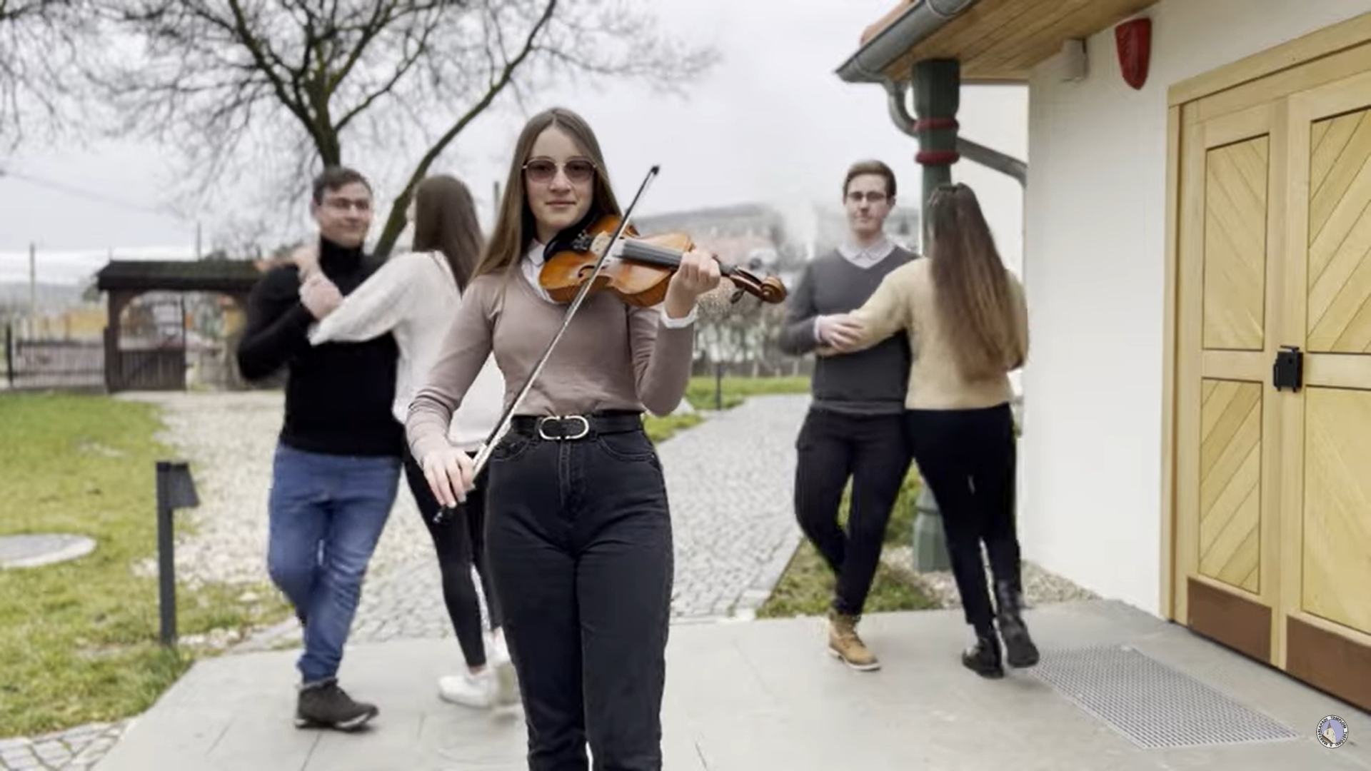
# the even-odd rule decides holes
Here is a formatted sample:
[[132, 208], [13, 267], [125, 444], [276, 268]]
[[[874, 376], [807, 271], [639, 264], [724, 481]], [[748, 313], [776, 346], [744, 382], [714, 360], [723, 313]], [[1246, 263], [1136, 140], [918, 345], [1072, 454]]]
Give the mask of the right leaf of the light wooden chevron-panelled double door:
[[1290, 96], [1282, 344], [1287, 671], [1371, 708], [1371, 73]]

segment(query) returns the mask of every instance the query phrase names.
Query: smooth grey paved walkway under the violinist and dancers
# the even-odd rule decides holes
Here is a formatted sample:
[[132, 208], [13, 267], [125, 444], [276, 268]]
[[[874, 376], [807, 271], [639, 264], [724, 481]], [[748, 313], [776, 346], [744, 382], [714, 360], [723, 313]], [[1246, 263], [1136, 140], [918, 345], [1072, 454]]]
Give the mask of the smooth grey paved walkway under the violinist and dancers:
[[[957, 610], [869, 616], [864, 631], [886, 665], [865, 674], [824, 654], [817, 619], [679, 624], [669, 648], [665, 767], [1371, 770], [1371, 716], [1180, 627], [1104, 601], [1034, 609], [1030, 624], [1043, 661], [998, 682], [956, 663], [965, 642]], [[526, 768], [518, 712], [481, 713], [435, 696], [450, 648], [352, 648], [343, 679], [381, 705], [374, 728], [355, 735], [292, 727], [293, 653], [203, 661], [96, 768]], [[1315, 738], [1326, 715], [1349, 726], [1341, 748]], [[1137, 738], [1111, 719], [1134, 724]], [[1176, 746], [1186, 744], [1201, 746]]]

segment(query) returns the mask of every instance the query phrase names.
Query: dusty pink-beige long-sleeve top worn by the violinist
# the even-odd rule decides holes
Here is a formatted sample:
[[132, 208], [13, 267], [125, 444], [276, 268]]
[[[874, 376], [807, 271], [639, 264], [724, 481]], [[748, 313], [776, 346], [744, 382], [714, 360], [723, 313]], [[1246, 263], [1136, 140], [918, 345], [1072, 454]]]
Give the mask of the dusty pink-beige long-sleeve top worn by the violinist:
[[[537, 244], [524, 259], [537, 261]], [[443, 340], [437, 359], [409, 409], [406, 434], [421, 462], [443, 449], [452, 413], [462, 405], [491, 353], [505, 376], [505, 406], [557, 335], [566, 305], [531, 281], [533, 270], [477, 277]], [[581, 303], [517, 414], [569, 416], [599, 410], [668, 414], [686, 395], [695, 347], [695, 314], [665, 321], [659, 307], [639, 309], [607, 292]]]

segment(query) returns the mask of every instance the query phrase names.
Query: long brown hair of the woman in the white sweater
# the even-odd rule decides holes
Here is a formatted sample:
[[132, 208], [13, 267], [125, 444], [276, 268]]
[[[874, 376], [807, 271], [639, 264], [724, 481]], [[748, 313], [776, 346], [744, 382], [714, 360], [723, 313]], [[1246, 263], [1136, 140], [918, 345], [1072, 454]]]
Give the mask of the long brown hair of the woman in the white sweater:
[[414, 251], [443, 252], [465, 292], [484, 246], [472, 191], [457, 177], [425, 177], [414, 189]]

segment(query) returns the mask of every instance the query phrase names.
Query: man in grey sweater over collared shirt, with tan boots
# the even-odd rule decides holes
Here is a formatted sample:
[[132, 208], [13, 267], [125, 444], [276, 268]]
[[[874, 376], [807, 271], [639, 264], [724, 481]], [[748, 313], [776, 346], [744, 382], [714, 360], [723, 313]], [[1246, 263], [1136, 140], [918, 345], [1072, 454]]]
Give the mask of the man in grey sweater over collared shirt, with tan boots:
[[[886, 237], [894, 204], [895, 174], [888, 166], [862, 161], [847, 170], [847, 241], [805, 266], [790, 295], [783, 351], [801, 355], [851, 342], [854, 329], [840, 316], [861, 307], [886, 274], [916, 258]], [[864, 351], [818, 357], [809, 414], [795, 440], [795, 519], [836, 576], [828, 650], [860, 671], [880, 668], [857, 635], [857, 623], [912, 460], [902, 424], [909, 364], [903, 335]], [[845, 531], [838, 517], [849, 480]]]

